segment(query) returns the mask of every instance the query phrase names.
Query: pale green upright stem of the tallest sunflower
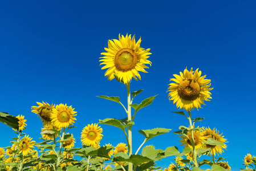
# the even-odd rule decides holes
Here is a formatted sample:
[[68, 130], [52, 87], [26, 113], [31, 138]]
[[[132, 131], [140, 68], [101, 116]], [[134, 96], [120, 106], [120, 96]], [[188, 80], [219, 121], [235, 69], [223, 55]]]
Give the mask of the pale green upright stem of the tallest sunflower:
[[[128, 122], [132, 121], [132, 113], [131, 113], [131, 91], [130, 91], [130, 83], [127, 83], [127, 101], [128, 101]], [[128, 127], [128, 153], [129, 157], [132, 155], [132, 126]], [[132, 163], [129, 162], [128, 171], [132, 171]]]

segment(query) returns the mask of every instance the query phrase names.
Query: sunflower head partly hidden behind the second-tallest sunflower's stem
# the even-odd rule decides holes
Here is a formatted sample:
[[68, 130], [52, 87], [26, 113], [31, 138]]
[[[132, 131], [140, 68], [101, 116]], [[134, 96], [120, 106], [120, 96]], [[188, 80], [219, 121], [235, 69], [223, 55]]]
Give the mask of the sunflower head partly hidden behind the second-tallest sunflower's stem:
[[[179, 137], [182, 138], [181, 140], [179, 140], [182, 143], [181, 145], [185, 145], [185, 147], [189, 147], [193, 149], [192, 142], [190, 141], [192, 139], [191, 131], [187, 133], [187, 136], [181, 135]], [[193, 137], [194, 137], [194, 146], [196, 149], [200, 148], [204, 144], [202, 142], [203, 140], [206, 140], [206, 137], [202, 134], [202, 132], [197, 130], [193, 131]]]

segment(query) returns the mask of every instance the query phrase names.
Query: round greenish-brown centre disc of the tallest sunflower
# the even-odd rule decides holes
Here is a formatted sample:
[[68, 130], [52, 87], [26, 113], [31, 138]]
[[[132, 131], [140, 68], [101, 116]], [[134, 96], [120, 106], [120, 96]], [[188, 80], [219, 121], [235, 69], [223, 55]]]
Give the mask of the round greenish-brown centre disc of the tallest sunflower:
[[114, 59], [116, 70], [122, 72], [131, 71], [138, 62], [138, 55], [130, 48], [122, 48], [119, 50]]

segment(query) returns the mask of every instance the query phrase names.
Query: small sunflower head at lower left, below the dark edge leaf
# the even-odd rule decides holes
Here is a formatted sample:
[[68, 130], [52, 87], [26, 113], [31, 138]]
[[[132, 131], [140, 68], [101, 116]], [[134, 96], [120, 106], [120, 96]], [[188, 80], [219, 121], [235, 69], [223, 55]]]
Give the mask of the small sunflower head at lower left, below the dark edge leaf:
[[19, 154], [22, 153], [23, 156], [27, 156], [27, 154], [31, 153], [33, 150], [32, 148], [34, 148], [35, 141], [31, 141], [32, 138], [29, 137], [29, 135], [25, 135], [25, 137], [23, 137], [23, 139], [21, 139], [19, 141], [18, 144], [18, 149], [19, 149]]

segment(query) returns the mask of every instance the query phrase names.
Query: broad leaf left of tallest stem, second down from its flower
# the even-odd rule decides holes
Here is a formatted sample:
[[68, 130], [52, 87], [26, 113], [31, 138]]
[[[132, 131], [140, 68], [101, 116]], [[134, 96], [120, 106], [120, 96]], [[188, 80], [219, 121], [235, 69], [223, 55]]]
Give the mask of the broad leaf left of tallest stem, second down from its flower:
[[122, 129], [125, 132], [125, 127], [134, 125], [134, 122], [129, 121], [127, 123], [124, 123], [122, 120], [119, 120], [119, 119], [107, 118], [104, 120], [99, 120], [99, 124], [112, 125], [114, 127]]

